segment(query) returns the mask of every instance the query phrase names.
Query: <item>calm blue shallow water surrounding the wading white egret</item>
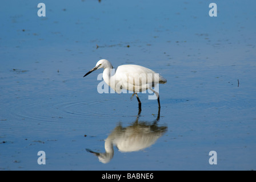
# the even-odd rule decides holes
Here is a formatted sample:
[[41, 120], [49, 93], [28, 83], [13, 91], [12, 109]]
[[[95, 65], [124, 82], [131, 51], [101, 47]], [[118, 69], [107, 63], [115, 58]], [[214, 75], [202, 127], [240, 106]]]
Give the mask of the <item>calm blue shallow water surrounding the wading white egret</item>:
[[[254, 2], [216, 1], [213, 18], [204, 1], [44, 3], [40, 18], [34, 1], [1, 4], [0, 170], [255, 170]], [[99, 94], [101, 71], [83, 78], [99, 59], [161, 73], [160, 113], [148, 94], [141, 113]], [[131, 135], [149, 142], [122, 150]], [[107, 139], [104, 164], [90, 151]]]

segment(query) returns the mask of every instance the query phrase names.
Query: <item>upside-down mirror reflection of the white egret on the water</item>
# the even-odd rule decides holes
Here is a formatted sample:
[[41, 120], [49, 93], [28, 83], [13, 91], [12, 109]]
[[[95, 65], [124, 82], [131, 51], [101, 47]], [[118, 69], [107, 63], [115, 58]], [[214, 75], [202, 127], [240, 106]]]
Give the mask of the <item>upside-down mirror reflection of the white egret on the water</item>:
[[86, 151], [98, 156], [100, 162], [108, 163], [114, 156], [113, 146], [117, 146], [121, 152], [139, 151], [150, 147], [167, 130], [167, 126], [158, 126], [159, 111], [158, 117], [153, 123], [138, 121], [141, 110], [139, 110], [135, 122], [130, 126], [122, 127], [122, 124], [119, 123], [105, 140], [105, 153], [98, 153], [89, 149], [86, 149]]

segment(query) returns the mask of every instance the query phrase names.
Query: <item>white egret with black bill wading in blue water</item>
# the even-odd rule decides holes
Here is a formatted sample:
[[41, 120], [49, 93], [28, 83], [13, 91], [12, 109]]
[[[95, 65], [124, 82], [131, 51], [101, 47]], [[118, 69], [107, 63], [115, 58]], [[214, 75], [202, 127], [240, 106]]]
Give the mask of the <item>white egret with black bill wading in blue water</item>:
[[[158, 73], [155, 73], [149, 68], [134, 64], [121, 65], [115, 70], [108, 60], [101, 59], [91, 71], [85, 74], [85, 76], [100, 68], [104, 68], [103, 80], [115, 92], [121, 93], [122, 89], [132, 91], [133, 96], [135, 94], [137, 97], [139, 107], [141, 107], [141, 101], [139, 100], [137, 93], [150, 89], [157, 96], [158, 107], [161, 107], [159, 93], [152, 88], [157, 84], [165, 84], [167, 80]], [[131, 96], [131, 98], [133, 96]]]

